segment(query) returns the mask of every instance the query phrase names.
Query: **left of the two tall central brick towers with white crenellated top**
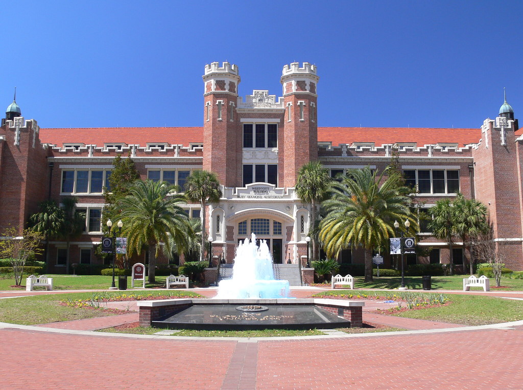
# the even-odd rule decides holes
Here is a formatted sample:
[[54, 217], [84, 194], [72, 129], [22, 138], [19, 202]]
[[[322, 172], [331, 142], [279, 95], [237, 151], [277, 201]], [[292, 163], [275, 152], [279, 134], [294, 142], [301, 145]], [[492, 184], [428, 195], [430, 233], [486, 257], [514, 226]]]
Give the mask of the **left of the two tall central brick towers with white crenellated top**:
[[[240, 74], [229, 62], [213, 62], [203, 74], [203, 169], [218, 175], [221, 184], [236, 186], [241, 169], [236, 102]], [[239, 167], [239, 168], [238, 168]]]

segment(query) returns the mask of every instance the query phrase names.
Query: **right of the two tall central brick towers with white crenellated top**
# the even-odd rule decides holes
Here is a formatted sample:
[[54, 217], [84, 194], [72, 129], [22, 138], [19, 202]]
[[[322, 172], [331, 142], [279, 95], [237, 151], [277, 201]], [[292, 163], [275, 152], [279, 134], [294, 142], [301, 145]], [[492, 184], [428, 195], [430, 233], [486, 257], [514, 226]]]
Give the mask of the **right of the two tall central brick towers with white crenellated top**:
[[318, 158], [316, 66], [298, 62], [283, 66], [281, 84], [285, 105], [283, 187], [293, 187], [300, 167]]

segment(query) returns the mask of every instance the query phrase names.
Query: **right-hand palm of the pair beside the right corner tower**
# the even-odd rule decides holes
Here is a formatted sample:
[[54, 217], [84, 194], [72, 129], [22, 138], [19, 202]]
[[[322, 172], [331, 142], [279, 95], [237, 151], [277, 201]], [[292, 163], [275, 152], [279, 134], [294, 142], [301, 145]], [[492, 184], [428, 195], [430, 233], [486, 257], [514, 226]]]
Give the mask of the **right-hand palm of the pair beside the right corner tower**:
[[[465, 199], [463, 194], [457, 193], [456, 199], [454, 199], [454, 232], [456, 236], [459, 236], [463, 241], [463, 272], [465, 271], [465, 262], [467, 260], [467, 247], [468, 243], [474, 237], [478, 237], [490, 228], [487, 221], [487, 208], [486, 206], [475, 200]], [[470, 274], [472, 275], [473, 261], [470, 259]]]

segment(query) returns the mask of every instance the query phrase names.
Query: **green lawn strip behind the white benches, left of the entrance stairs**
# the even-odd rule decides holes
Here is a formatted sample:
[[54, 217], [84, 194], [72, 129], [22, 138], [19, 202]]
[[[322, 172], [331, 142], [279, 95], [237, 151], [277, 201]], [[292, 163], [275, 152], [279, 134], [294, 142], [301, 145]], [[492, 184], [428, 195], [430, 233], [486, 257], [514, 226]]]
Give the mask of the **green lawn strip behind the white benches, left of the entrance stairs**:
[[[53, 278], [53, 290], [84, 290], [84, 289], [108, 289], [112, 283], [112, 276], [103, 275], [54, 275], [46, 274]], [[26, 277], [22, 279], [23, 287], [11, 287], [15, 284], [14, 278], [2, 278], [0, 275], [0, 290], [22, 290], [25, 289]], [[156, 283], [150, 284], [145, 281], [145, 287], [165, 287], [166, 276], [156, 276]], [[143, 283], [143, 282], [142, 282]], [[118, 276], [115, 277], [115, 285], [118, 287]], [[137, 281], [137, 286], [142, 286]], [[44, 289], [44, 287], [37, 287]], [[127, 277], [127, 288], [131, 288], [131, 277]]]

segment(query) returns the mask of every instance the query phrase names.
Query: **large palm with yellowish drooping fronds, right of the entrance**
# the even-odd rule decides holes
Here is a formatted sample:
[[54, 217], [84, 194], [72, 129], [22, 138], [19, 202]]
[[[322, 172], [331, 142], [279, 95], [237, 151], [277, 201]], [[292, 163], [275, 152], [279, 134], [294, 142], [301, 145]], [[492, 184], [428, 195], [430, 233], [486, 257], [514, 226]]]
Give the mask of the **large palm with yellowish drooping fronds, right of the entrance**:
[[[365, 281], [372, 281], [372, 248], [384, 245], [394, 237], [394, 221], [406, 220], [417, 230], [407, 196], [408, 188], [399, 185], [399, 176], [383, 174], [367, 167], [350, 170], [341, 182], [333, 182], [332, 197], [323, 203], [327, 215], [320, 224], [320, 240], [327, 256], [343, 248], [365, 249]], [[380, 184], [383, 181], [382, 184]]]

